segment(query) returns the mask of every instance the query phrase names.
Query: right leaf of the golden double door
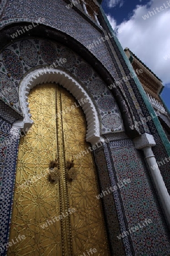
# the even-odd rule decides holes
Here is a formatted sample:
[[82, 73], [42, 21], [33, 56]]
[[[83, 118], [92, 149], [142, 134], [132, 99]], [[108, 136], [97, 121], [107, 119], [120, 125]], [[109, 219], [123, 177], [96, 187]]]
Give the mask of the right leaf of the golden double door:
[[[63, 92], [65, 89], [61, 89]], [[62, 95], [62, 103], [66, 109], [78, 106], [75, 98], [69, 97], [66, 91]], [[70, 98], [70, 101], [67, 100]], [[65, 155], [77, 155], [86, 151], [91, 144], [86, 142], [86, 118], [82, 108], [77, 107], [70, 112], [63, 112], [63, 133], [65, 136]], [[71, 233], [74, 255], [87, 254], [90, 248], [96, 248], [95, 255], [109, 255], [107, 239], [101, 214], [100, 201], [96, 199], [96, 170], [90, 150], [82, 158], [75, 159], [76, 179], [68, 183], [70, 208], [76, 212], [70, 215]]]

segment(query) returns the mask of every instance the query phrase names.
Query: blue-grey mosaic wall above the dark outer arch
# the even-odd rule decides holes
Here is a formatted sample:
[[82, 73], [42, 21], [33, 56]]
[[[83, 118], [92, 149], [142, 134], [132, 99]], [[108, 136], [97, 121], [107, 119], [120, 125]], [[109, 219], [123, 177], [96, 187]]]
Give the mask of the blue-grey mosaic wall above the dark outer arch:
[[[16, 12], [16, 10], [18, 11]], [[0, 28], [4, 27], [6, 24], [23, 21], [43, 23], [70, 35], [84, 47], [88, 48], [91, 53], [101, 61], [104, 67], [111, 73], [114, 80], [121, 80], [122, 77], [125, 76], [124, 69], [126, 69], [126, 73], [129, 75], [129, 69], [126, 64], [122, 64], [122, 56], [116, 44], [114, 46], [115, 49], [112, 49], [112, 51], [111, 48], [109, 48], [108, 43], [102, 41], [91, 49], [88, 47], [90, 44], [101, 39], [101, 36], [104, 36], [103, 30], [101, 30], [100, 27], [97, 27], [96, 23], [94, 24], [87, 15], [82, 16], [82, 13], [79, 10], [67, 10], [65, 1], [49, 0], [42, 3], [41, 0], [37, 0], [36, 2], [33, 0], [24, 2], [22, 0], [13, 0], [11, 2], [11, 0], [9, 0], [8, 5], [2, 14]], [[103, 28], [106, 30], [105, 27]], [[110, 34], [110, 37], [112, 39], [112, 34]], [[113, 61], [113, 54], [115, 61]], [[117, 64], [117, 60], [120, 57], [121, 61]], [[129, 99], [127, 101], [127, 104], [131, 109], [131, 115], [136, 121], [140, 121], [139, 116], [140, 114], [142, 115], [141, 102], [143, 102], [141, 94], [138, 92], [139, 98], [137, 98], [137, 95], [131, 90], [131, 81], [130, 83], [127, 82], [129, 88], [126, 88], [126, 84], [124, 84], [123, 86], [120, 86], [120, 89], [127, 99], [128, 97], [131, 98], [130, 101]], [[141, 102], [139, 102], [139, 100]], [[140, 126], [139, 129], [141, 130], [141, 133], [144, 133], [142, 126]], [[147, 125], [145, 130], [146, 132], [150, 132]]]

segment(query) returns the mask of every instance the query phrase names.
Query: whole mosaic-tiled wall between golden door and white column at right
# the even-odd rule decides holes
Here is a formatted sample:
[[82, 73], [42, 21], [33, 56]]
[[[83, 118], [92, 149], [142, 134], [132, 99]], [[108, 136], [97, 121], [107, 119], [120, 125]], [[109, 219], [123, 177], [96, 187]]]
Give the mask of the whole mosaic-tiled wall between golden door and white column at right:
[[[120, 188], [117, 185], [114, 192], [103, 196], [108, 225], [114, 230], [111, 231], [112, 244], [120, 243], [117, 236], [138, 226], [135, 232], [126, 232], [124, 238], [121, 238], [125, 255], [170, 255], [169, 232], [142, 152], [136, 150], [133, 142], [123, 133], [106, 137], [110, 142], [104, 144], [104, 153], [101, 150], [95, 152], [97, 165], [100, 166], [101, 187], [106, 191], [108, 184], [112, 188], [121, 184]], [[127, 179], [130, 179], [130, 183], [122, 185], [121, 181]], [[115, 211], [119, 228], [117, 218], [112, 217]], [[143, 221], [147, 219], [151, 223], [143, 226]], [[116, 251], [115, 255], [123, 254]]]

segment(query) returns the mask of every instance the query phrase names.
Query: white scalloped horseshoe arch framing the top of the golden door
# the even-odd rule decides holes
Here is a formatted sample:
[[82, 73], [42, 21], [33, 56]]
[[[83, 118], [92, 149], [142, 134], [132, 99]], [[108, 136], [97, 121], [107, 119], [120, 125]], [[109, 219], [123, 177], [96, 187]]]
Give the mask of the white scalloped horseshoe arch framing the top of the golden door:
[[83, 87], [69, 74], [60, 69], [40, 68], [28, 73], [21, 81], [19, 86], [19, 101], [20, 108], [22, 109], [24, 119], [23, 121], [16, 121], [14, 127], [20, 127], [21, 130], [25, 131], [29, 129], [33, 120], [29, 113], [28, 94], [29, 91], [38, 84], [45, 84], [46, 82], [56, 82], [61, 84], [64, 88], [69, 90], [70, 93], [80, 101], [82, 98], [87, 98], [87, 102], [84, 102], [82, 109], [86, 115], [87, 121], [87, 134], [86, 141], [91, 144], [95, 144], [102, 140], [100, 138], [100, 124], [99, 117], [94, 103], [90, 96], [83, 89]]

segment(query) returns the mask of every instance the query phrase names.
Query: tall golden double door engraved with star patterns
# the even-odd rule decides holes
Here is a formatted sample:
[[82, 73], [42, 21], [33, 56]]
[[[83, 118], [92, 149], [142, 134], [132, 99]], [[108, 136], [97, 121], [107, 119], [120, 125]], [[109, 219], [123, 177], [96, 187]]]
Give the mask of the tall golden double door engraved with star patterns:
[[[75, 106], [75, 108], [73, 107]], [[108, 249], [94, 159], [66, 160], [90, 146], [78, 102], [57, 84], [29, 93], [34, 124], [21, 138], [7, 255], [111, 255]], [[49, 162], [58, 158], [58, 181], [49, 182]]]

